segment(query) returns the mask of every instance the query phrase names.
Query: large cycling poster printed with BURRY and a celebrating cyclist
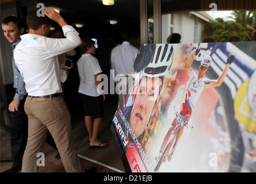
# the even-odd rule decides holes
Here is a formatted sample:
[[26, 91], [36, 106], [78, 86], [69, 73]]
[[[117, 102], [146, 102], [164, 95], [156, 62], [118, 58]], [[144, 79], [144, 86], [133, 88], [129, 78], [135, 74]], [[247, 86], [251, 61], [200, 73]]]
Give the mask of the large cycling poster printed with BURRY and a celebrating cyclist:
[[113, 118], [132, 172], [256, 172], [255, 53], [142, 45]]

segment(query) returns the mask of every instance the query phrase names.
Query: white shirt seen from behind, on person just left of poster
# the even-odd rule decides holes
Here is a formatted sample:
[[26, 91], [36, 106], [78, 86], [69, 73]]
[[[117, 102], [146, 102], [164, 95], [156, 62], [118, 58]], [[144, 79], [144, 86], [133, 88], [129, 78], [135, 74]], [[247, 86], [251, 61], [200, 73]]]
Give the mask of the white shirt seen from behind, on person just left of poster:
[[131, 74], [137, 52], [138, 49], [128, 41], [124, 41], [121, 45], [113, 48], [111, 52], [111, 68], [114, 70], [115, 76], [117, 74]]

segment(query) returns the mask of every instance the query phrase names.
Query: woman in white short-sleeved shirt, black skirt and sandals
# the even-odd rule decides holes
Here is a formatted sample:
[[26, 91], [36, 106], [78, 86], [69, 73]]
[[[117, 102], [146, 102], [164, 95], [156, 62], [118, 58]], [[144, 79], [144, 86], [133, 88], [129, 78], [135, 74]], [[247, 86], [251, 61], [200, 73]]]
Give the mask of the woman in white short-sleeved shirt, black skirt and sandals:
[[98, 131], [101, 126], [103, 112], [103, 101], [105, 94], [101, 89], [101, 81], [97, 80], [98, 75], [102, 72], [100, 64], [95, 54], [94, 41], [91, 39], [83, 39], [81, 44], [84, 53], [77, 62], [80, 77], [80, 85], [78, 93], [80, 95], [83, 112], [85, 114], [85, 125], [89, 133], [89, 148], [105, 148], [108, 143], [102, 143], [98, 140]]

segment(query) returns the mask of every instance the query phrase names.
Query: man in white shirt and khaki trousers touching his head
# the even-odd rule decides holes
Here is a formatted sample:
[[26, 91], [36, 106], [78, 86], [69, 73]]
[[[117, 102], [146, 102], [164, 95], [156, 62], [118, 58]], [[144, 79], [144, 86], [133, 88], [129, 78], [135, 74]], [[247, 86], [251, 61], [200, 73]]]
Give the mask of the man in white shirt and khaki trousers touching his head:
[[[60, 97], [60, 71], [58, 55], [82, 41], [79, 33], [52, 7], [45, 7], [45, 17], [37, 17], [36, 10], [28, 13], [26, 24], [29, 34], [21, 36], [14, 51], [14, 60], [24, 77], [28, 97], [28, 143], [22, 160], [22, 172], [36, 172], [37, 154], [41, 152], [47, 132], [51, 133], [67, 172], [81, 172], [81, 164], [72, 141], [71, 118], [64, 99]], [[47, 35], [51, 20], [63, 30], [65, 39], [51, 39]]]

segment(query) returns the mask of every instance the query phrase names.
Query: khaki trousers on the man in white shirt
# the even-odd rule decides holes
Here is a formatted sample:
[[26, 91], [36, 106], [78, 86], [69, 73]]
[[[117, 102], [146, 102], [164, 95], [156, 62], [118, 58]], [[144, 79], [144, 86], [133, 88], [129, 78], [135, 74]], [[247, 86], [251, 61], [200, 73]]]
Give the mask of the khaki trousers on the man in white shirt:
[[[40, 101], [38, 101], [40, 100]], [[22, 160], [22, 172], [37, 172], [37, 154], [51, 133], [67, 172], [82, 172], [72, 141], [71, 117], [62, 97], [27, 97], [28, 143]]]

